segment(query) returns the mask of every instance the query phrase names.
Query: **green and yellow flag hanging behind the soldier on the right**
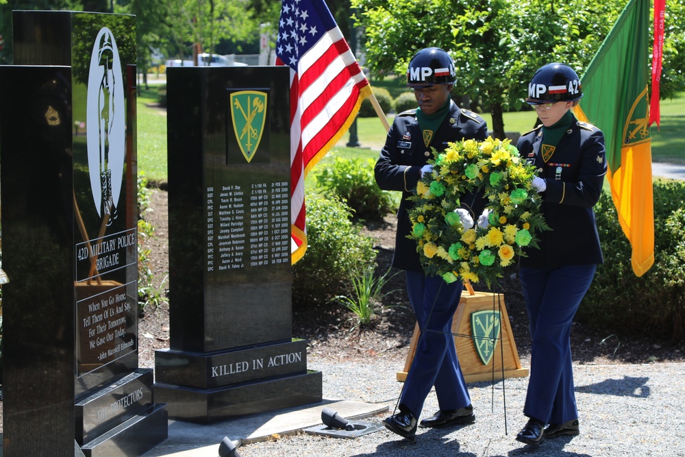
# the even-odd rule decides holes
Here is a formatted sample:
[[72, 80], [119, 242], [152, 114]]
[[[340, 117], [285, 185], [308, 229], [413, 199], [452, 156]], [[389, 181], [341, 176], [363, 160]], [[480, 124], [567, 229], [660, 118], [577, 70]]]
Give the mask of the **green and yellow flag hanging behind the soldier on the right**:
[[580, 82], [574, 109], [604, 134], [608, 181], [637, 276], [654, 262], [654, 216], [649, 131], [649, 1], [630, 0]]

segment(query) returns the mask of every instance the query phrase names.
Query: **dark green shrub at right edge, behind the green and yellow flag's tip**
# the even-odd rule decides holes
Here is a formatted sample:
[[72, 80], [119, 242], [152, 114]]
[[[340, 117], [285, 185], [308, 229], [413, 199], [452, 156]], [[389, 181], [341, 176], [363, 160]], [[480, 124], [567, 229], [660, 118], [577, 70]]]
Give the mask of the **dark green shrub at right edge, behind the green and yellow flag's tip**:
[[631, 247], [608, 193], [595, 207], [604, 264], [578, 319], [619, 336], [682, 338], [685, 328], [685, 183], [654, 183], [654, 264], [641, 277], [632, 271]]

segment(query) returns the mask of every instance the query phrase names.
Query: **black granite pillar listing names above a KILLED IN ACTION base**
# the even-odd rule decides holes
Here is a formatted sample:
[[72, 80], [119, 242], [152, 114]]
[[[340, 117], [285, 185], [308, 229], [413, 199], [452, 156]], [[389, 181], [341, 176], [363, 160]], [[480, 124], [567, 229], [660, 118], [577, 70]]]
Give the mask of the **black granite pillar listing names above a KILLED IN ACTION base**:
[[292, 340], [288, 67], [167, 69], [169, 349], [155, 397], [209, 423], [321, 402]]

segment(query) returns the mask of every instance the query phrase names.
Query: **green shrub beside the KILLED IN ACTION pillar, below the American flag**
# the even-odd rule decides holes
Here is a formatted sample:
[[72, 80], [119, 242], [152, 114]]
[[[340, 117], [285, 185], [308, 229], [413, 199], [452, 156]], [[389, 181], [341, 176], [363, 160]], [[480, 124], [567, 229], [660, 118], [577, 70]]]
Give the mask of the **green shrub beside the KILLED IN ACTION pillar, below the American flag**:
[[373, 264], [373, 240], [350, 221], [336, 198], [308, 192], [307, 250], [292, 266], [293, 304], [323, 304], [349, 290], [349, 271]]

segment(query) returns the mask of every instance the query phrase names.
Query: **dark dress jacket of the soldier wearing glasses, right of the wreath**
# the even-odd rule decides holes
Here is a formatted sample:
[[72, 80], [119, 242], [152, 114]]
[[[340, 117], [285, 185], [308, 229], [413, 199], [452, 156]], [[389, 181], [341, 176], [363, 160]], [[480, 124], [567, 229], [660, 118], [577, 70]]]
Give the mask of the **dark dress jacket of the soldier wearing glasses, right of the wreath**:
[[540, 125], [523, 134], [517, 148], [545, 178], [541, 209], [552, 230], [538, 233], [540, 249], [526, 249], [520, 265], [552, 269], [603, 263], [593, 206], [607, 171], [604, 136], [597, 127], [574, 117], [547, 163], [540, 151], [542, 136]]

